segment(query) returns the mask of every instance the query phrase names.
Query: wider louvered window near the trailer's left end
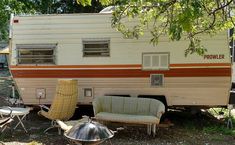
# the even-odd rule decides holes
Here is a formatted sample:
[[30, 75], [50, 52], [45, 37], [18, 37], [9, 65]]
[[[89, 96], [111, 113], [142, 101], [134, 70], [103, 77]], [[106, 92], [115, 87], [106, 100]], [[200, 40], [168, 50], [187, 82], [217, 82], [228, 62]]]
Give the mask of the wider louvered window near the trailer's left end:
[[56, 45], [16, 45], [18, 64], [55, 64]]

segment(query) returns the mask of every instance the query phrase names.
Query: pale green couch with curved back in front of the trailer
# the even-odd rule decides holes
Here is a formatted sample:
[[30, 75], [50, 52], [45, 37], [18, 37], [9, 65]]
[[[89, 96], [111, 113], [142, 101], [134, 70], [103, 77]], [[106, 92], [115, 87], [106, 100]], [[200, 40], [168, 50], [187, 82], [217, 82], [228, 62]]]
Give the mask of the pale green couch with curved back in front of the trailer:
[[155, 136], [165, 105], [150, 98], [101, 96], [93, 102], [96, 120], [147, 125], [147, 133]]

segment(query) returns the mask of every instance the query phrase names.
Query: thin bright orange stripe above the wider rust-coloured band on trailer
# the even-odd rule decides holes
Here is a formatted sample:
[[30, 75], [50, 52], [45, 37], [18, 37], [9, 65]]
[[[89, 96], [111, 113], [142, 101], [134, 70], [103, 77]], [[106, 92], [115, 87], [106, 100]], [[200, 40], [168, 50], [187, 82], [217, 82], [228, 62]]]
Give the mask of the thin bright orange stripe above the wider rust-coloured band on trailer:
[[[187, 63], [187, 64], [170, 64], [170, 67], [205, 67], [205, 66], [228, 66], [230, 63]], [[141, 64], [117, 64], [117, 65], [11, 65], [10, 68], [136, 68]]]

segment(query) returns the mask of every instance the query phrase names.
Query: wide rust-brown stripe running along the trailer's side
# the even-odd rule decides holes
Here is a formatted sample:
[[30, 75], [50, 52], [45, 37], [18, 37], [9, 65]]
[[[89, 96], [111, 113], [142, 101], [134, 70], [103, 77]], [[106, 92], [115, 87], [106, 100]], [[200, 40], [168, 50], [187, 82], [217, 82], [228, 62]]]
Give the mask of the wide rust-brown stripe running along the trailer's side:
[[162, 71], [140, 69], [118, 70], [12, 70], [14, 78], [127, 78], [149, 77], [164, 74], [165, 77], [214, 77], [231, 76], [231, 68], [182, 68]]

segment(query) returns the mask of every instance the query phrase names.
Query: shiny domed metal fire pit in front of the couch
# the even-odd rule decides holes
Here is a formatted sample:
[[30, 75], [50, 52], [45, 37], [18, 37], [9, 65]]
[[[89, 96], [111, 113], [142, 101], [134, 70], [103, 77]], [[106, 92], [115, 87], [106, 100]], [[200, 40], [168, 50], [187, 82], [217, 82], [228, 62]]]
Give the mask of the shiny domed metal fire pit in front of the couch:
[[88, 119], [78, 123], [64, 133], [64, 136], [76, 144], [97, 145], [114, 136], [115, 131], [106, 126]]

